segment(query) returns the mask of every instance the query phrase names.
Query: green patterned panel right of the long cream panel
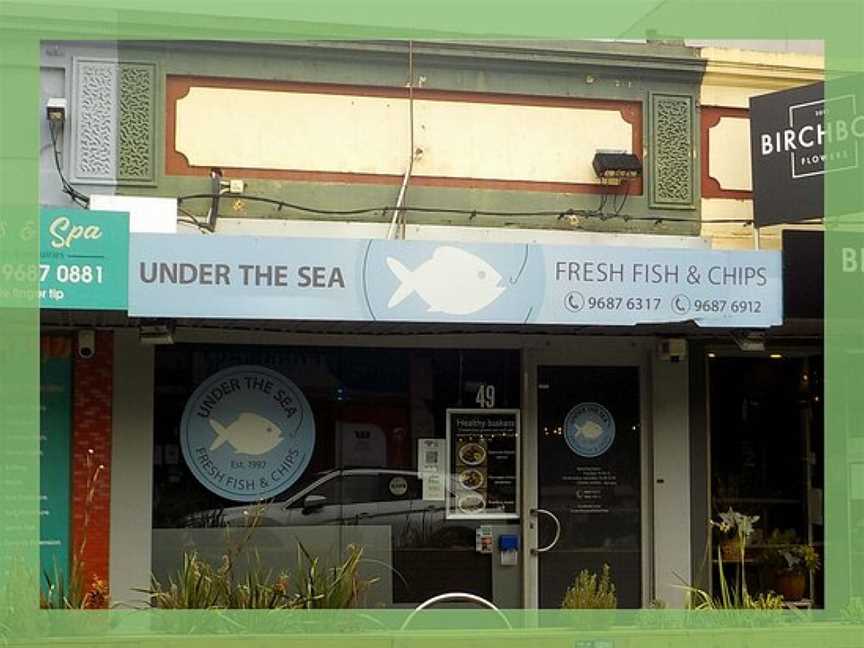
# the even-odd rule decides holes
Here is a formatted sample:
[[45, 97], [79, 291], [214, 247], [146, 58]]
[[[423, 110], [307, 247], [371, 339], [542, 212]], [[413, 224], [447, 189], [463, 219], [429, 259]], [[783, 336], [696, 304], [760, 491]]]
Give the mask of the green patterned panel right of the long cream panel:
[[693, 98], [652, 94], [650, 110], [651, 207], [695, 209]]

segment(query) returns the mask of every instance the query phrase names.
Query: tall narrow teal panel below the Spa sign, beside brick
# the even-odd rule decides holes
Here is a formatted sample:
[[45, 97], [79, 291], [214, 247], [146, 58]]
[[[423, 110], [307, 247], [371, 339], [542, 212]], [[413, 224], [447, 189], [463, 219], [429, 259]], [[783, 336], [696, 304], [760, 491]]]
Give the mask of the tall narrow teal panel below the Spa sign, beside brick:
[[72, 341], [42, 338], [39, 417], [39, 562], [52, 582], [68, 583], [72, 471]]

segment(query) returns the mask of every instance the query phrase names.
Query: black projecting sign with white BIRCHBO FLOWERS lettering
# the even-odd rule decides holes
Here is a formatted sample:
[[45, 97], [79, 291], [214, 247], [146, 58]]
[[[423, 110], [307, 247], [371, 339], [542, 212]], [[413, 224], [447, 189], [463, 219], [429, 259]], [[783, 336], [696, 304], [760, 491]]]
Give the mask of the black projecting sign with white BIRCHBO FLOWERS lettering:
[[861, 210], [864, 78], [849, 76], [750, 99], [757, 227]]

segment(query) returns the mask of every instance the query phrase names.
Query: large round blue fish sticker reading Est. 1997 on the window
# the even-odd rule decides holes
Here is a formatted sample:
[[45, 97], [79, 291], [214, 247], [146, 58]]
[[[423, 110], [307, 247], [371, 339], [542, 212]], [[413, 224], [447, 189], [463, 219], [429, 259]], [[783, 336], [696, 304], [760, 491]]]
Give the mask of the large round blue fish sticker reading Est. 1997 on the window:
[[210, 376], [180, 422], [186, 464], [208, 490], [254, 502], [278, 495], [306, 470], [315, 421], [303, 393], [285, 376], [239, 366]]

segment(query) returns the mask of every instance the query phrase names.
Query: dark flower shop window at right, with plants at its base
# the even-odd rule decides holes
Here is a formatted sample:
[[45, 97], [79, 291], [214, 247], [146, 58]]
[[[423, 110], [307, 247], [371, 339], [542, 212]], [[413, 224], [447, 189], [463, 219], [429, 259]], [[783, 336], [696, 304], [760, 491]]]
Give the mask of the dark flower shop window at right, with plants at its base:
[[[745, 557], [749, 588], [820, 606], [821, 570], [803, 574], [803, 592], [780, 575], [786, 556], [805, 546], [824, 563], [821, 356], [713, 358], [709, 393], [713, 517], [730, 508], [758, 516]], [[731, 552], [718, 558], [723, 541], [715, 530], [706, 556], [715, 587], [718, 563], [735, 569]]]

